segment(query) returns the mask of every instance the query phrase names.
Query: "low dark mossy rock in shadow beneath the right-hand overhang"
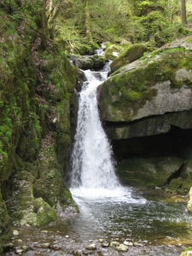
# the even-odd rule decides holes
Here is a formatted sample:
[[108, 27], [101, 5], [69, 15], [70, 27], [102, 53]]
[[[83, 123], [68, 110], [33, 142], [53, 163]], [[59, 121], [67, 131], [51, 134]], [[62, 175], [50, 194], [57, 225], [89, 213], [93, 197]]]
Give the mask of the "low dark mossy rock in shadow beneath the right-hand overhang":
[[151, 188], [163, 187], [182, 165], [183, 159], [177, 157], [134, 158], [119, 164], [117, 174], [123, 183]]

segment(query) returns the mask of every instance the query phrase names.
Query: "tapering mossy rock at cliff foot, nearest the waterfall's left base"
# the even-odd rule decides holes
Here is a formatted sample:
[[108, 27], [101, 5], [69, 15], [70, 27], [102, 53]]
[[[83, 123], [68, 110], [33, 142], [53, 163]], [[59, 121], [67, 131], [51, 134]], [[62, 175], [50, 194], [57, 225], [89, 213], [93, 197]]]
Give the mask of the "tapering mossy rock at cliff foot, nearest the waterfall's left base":
[[76, 211], [77, 207], [64, 183], [62, 167], [57, 162], [54, 148], [44, 148], [37, 164], [39, 175], [33, 184], [34, 196], [42, 197], [55, 210], [59, 207], [65, 211], [67, 207], [72, 207]]

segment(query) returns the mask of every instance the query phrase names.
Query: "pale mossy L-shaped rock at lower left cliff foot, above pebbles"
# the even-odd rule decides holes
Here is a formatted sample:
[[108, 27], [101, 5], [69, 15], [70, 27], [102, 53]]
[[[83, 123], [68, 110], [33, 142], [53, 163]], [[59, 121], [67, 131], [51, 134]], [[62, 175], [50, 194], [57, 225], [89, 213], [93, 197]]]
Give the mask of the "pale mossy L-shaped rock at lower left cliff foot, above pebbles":
[[42, 226], [57, 219], [55, 211], [43, 198], [34, 198], [33, 180], [32, 174], [26, 171], [15, 178], [9, 212], [16, 224]]

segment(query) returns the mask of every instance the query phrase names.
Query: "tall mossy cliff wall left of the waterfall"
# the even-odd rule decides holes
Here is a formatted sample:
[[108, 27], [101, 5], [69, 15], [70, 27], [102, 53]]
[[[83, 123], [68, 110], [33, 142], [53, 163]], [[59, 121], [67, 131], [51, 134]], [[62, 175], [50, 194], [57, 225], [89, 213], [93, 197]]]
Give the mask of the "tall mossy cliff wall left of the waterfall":
[[[21, 14], [19, 3], [12, 7], [13, 14]], [[9, 19], [7, 3], [1, 5], [1, 15], [7, 22], [0, 31], [0, 233], [9, 237], [10, 217], [17, 224], [40, 226], [69, 206], [77, 210], [64, 169], [70, 146], [69, 101], [78, 68], [63, 51], [50, 44], [43, 49], [42, 38], [26, 29], [26, 22], [21, 32]]]

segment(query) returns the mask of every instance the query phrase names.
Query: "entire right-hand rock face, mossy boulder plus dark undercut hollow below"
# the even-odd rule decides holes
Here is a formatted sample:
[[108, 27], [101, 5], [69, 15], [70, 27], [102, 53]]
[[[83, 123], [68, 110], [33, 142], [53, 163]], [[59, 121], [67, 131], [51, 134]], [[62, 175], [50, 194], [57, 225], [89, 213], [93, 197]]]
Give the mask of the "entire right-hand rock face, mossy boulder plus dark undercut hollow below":
[[[143, 185], [151, 183], [152, 186], [166, 184], [170, 188], [175, 184], [178, 190], [185, 192], [190, 187], [191, 49], [191, 37], [167, 44], [120, 67], [98, 88], [98, 105], [104, 128], [112, 140], [116, 159], [125, 165], [123, 171], [119, 167], [119, 175], [126, 181], [130, 179]], [[149, 158], [165, 157], [168, 163], [170, 156], [178, 157], [177, 175], [171, 164], [172, 172], [161, 174], [165, 178], [158, 183], [160, 170]], [[135, 170], [131, 176], [134, 166], [141, 172], [139, 174]], [[177, 180], [178, 177], [181, 180]]]

